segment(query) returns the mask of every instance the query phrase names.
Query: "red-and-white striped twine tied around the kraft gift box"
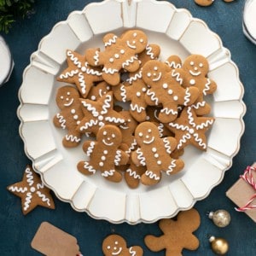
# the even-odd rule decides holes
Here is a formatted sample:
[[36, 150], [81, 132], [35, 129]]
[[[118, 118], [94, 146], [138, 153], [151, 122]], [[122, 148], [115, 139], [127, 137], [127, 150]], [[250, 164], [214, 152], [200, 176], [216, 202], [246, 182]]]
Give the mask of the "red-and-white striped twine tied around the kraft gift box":
[[[240, 176], [246, 183], [251, 185], [253, 189], [256, 191], [256, 181], [253, 178], [253, 172], [256, 172], [256, 168], [253, 166], [247, 166], [244, 173]], [[236, 207], [237, 212], [245, 212], [247, 210], [252, 210], [256, 208], [256, 205], [251, 205], [253, 200], [256, 198], [256, 193], [251, 196], [251, 198], [247, 201], [246, 205], [243, 207]]]

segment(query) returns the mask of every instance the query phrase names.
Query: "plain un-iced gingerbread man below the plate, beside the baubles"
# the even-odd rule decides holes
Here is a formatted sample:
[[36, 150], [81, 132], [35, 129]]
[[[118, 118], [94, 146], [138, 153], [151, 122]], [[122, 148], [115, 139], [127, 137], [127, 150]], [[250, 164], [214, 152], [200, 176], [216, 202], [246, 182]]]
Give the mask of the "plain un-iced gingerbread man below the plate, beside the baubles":
[[196, 250], [199, 247], [199, 240], [193, 232], [200, 223], [200, 215], [195, 209], [179, 212], [177, 220], [161, 219], [159, 226], [164, 235], [145, 236], [145, 244], [153, 252], [166, 250], [166, 256], [182, 256], [183, 248]]

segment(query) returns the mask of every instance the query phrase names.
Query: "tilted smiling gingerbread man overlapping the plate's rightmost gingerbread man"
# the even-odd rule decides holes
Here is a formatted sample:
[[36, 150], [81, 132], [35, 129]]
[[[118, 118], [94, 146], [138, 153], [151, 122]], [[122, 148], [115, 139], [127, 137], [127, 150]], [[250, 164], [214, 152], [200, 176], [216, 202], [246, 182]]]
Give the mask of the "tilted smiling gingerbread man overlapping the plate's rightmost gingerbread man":
[[143, 66], [143, 80], [150, 86], [145, 100], [148, 105], [162, 104], [159, 119], [168, 123], [177, 118], [177, 106], [189, 106], [199, 96], [199, 90], [194, 87], [183, 89], [181, 86], [185, 79], [182, 69], [170, 69], [160, 61], [148, 61]]

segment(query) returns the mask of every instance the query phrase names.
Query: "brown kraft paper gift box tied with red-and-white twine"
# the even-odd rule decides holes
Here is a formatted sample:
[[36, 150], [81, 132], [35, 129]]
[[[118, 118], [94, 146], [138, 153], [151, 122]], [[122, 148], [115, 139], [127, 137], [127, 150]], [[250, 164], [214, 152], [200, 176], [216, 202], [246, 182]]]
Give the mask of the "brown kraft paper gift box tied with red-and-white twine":
[[[256, 162], [253, 164], [256, 168]], [[256, 171], [252, 172], [252, 177], [254, 183], [256, 183]], [[247, 202], [252, 199], [252, 196], [256, 194], [256, 189], [253, 188], [253, 185], [247, 183], [243, 178], [239, 178], [237, 182], [226, 192], [226, 195], [233, 201], [237, 207], [244, 207], [247, 205]], [[256, 197], [250, 203], [250, 206], [256, 205]], [[256, 222], [256, 208], [248, 209], [245, 213]]]

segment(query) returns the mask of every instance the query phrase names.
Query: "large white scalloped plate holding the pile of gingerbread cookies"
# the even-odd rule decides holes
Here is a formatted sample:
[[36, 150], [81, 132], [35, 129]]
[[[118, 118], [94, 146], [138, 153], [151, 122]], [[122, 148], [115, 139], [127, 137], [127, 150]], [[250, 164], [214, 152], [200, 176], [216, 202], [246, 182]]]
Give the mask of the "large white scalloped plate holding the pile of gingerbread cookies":
[[[102, 35], [119, 34], [131, 27], [145, 30], [149, 43], [160, 45], [161, 60], [172, 54], [182, 59], [189, 54], [205, 55], [210, 63], [209, 77], [218, 84], [214, 96], [208, 98], [216, 121], [207, 135], [207, 152], [186, 148], [183, 172], [163, 177], [150, 188], [140, 185], [129, 189], [125, 182], [109, 183], [97, 174], [84, 177], [76, 169], [84, 159], [81, 147], [63, 148], [64, 134], [52, 124], [57, 112], [55, 92], [63, 85], [56, 77], [67, 67], [66, 49], [84, 53], [84, 49], [102, 47]], [[32, 54], [20, 87], [20, 136], [44, 183], [76, 211], [112, 223], [152, 223], [193, 207], [222, 181], [240, 148], [246, 111], [242, 96], [238, 69], [229, 50], [187, 10], [154, 0], [91, 3], [58, 23]]]

